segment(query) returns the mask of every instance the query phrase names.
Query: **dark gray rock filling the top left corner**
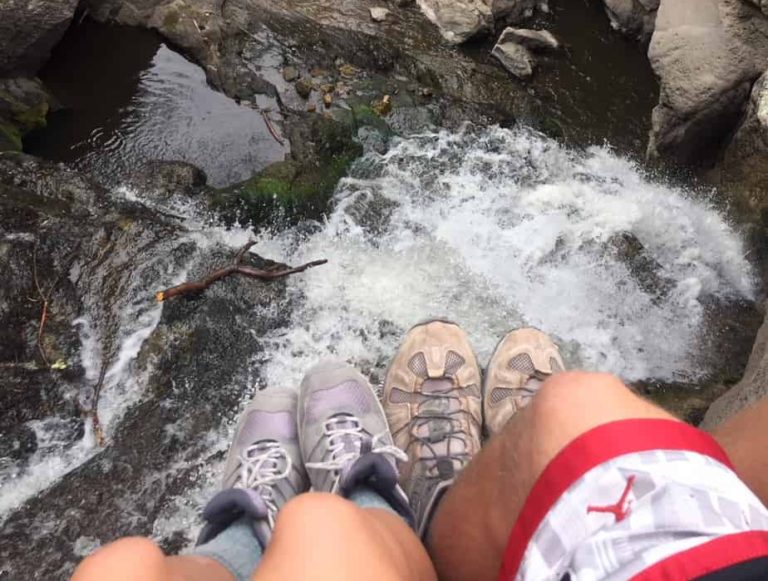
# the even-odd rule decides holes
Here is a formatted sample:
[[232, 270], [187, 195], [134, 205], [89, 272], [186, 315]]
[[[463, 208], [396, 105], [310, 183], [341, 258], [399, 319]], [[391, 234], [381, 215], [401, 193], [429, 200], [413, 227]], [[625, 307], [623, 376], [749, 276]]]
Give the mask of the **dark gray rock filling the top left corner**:
[[78, 0], [0, 3], [0, 75], [35, 73], [75, 14]]

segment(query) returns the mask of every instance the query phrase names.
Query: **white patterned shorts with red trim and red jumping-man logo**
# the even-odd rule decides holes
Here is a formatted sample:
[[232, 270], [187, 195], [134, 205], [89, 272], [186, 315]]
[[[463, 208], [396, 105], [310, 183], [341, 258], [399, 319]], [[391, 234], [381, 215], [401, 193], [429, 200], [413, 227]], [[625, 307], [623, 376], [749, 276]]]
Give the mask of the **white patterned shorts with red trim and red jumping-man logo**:
[[717, 578], [768, 579], [768, 510], [711, 436], [672, 420], [626, 420], [583, 434], [547, 466], [515, 523], [500, 578], [706, 579], [728, 571]]

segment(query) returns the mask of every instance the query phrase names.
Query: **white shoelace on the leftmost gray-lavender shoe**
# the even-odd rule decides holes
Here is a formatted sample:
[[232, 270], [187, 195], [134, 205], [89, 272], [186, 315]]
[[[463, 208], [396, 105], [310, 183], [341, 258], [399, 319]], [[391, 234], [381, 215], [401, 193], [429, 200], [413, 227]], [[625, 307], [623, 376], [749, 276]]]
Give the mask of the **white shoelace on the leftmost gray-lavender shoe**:
[[[281, 462], [285, 467], [279, 470]], [[259, 442], [240, 453], [240, 476], [236, 488], [256, 490], [267, 505], [269, 526], [274, 527], [277, 515], [277, 502], [274, 496], [275, 485], [287, 478], [293, 468], [288, 452], [277, 442]]]

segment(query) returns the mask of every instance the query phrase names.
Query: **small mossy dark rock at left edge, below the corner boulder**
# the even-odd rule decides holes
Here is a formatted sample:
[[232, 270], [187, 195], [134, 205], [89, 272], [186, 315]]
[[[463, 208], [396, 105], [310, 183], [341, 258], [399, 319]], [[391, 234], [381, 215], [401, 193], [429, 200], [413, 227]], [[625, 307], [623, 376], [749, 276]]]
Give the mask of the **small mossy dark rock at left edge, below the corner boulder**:
[[50, 98], [37, 79], [0, 79], [0, 152], [21, 151], [24, 135], [45, 127]]

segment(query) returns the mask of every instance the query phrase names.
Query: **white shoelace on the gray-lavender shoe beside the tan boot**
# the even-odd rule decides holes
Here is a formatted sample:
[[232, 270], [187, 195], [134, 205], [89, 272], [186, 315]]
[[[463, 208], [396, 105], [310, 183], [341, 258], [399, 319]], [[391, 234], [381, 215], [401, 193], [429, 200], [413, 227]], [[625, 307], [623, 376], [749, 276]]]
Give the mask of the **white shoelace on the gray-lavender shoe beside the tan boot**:
[[[387, 437], [389, 430], [370, 438], [363, 432], [362, 423], [355, 416], [344, 415], [330, 418], [323, 424], [323, 432], [328, 438], [328, 449], [331, 452], [331, 459], [323, 462], [307, 462], [304, 466], [313, 470], [339, 472], [334, 480], [332, 492], [336, 492], [338, 489], [341, 470], [350, 462], [354, 462], [360, 457], [363, 450], [363, 441], [367, 438], [370, 439], [371, 452], [374, 454], [390, 456], [394, 460], [400, 460], [401, 462], [408, 461], [408, 455], [397, 446], [390, 444], [377, 446], [383, 438]], [[345, 449], [350, 438], [354, 445], [354, 450], [351, 451]]]

